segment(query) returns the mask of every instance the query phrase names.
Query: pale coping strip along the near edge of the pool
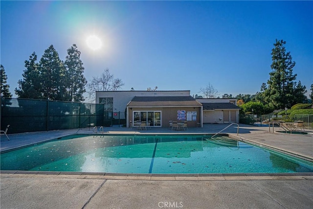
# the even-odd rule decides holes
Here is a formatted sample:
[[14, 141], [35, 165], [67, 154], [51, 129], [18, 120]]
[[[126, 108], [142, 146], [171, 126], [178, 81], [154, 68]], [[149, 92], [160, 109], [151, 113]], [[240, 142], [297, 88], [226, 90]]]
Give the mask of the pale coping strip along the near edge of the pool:
[[108, 179], [151, 181], [313, 180], [313, 173], [141, 174], [59, 171], [0, 171], [1, 178]]

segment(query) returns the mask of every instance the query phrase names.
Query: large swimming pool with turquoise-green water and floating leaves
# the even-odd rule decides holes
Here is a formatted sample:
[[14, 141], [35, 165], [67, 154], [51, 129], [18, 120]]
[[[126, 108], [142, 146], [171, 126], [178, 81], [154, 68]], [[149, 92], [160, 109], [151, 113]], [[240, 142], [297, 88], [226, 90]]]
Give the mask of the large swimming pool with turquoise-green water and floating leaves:
[[1, 154], [1, 170], [110, 173], [294, 173], [313, 163], [210, 135], [75, 135]]

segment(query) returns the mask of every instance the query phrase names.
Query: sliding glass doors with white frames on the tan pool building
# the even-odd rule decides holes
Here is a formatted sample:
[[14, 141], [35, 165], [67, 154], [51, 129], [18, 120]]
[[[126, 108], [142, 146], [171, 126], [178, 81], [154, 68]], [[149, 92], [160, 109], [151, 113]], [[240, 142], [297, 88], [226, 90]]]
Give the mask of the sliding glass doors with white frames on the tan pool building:
[[134, 122], [146, 122], [148, 126], [161, 127], [161, 111], [134, 111]]

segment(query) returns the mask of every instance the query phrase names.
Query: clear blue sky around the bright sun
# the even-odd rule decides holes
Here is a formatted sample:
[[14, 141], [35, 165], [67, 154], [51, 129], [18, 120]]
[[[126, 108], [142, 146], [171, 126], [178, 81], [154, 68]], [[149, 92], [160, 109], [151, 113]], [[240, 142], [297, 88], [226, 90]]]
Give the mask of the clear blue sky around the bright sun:
[[[53, 45], [81, 51], [85, 77], [109, 68], [122, 90], [255, 94], [269, 78], [275, 40], [286, 41], [293, 73], [311, 93], [313, 1], [0, 1], [0, 62], [10, 92], [24, 61]], [[86, 39], [103, 46], [91, 50]]]

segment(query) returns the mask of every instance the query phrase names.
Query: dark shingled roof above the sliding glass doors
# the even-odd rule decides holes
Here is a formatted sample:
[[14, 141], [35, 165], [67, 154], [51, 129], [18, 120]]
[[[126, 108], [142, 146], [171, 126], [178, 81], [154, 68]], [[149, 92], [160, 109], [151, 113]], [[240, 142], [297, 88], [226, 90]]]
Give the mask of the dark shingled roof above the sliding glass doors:
[[134, 96], [127, 106], [201, 106], [192, 96]]

